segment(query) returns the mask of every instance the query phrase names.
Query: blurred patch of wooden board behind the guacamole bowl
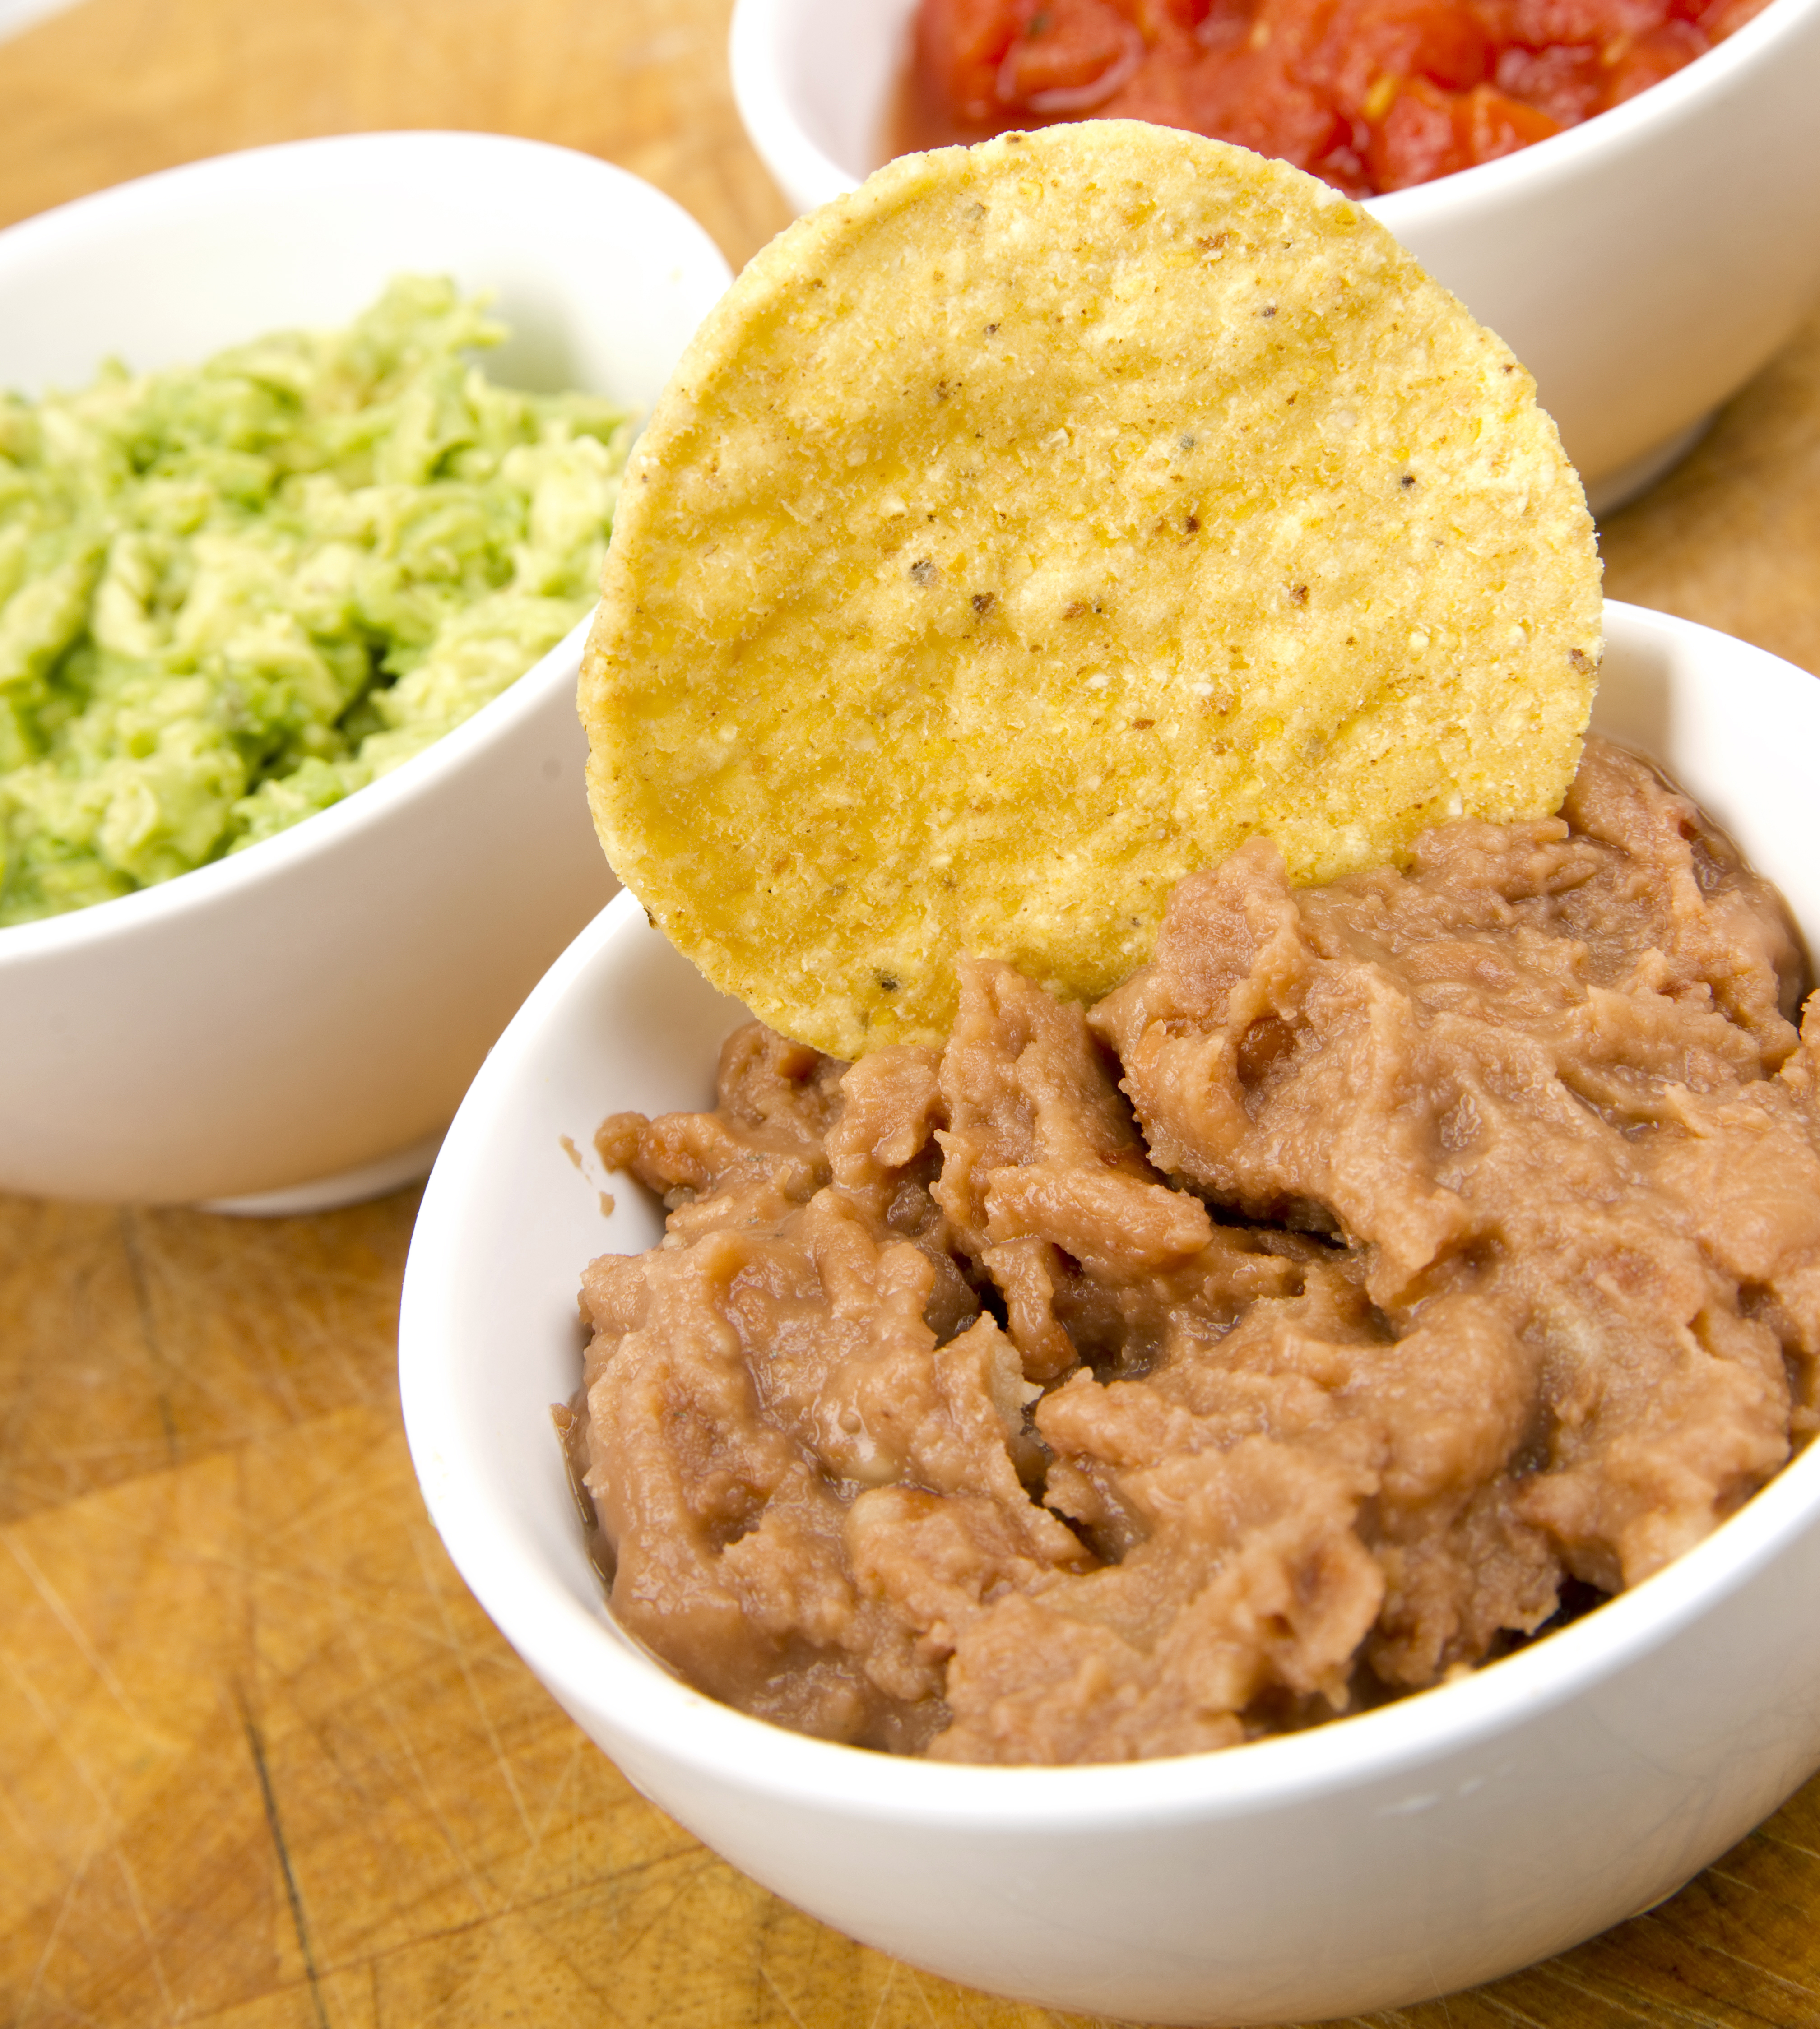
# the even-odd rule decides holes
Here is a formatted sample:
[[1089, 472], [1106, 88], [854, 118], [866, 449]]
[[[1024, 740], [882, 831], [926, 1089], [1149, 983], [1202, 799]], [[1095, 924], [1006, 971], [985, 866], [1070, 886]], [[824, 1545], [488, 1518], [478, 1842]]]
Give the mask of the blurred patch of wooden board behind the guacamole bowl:
[[229, 148], [485, 128], [605, 154], [734, 266], [789, 223], [726, 79], [726, 0], [85, 0], [0, 45], [0, 223]]

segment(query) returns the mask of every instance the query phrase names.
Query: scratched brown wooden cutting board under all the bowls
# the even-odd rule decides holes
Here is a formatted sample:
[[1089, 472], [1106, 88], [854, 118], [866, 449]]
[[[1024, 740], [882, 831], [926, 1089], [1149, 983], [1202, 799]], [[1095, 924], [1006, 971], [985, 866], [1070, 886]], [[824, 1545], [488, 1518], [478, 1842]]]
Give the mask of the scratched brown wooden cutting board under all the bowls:
[[[0, 223], [170, 162], [497, 128], [785, 209], [726, 0], [83, 0], [0, 43]], [[6, 306], [0, 304], [0, 317]], [[1613, 594], [1820, 672], [1820, 325], [1603, 532]], [[428, 1526], [414, 1193], [310, 1219], [0, 1199], [0, 2023], [1037, 2029], [704, 1852]], [[1406, 2029], [1820, 2023], [1820, 1781], [1674, 1901]]]

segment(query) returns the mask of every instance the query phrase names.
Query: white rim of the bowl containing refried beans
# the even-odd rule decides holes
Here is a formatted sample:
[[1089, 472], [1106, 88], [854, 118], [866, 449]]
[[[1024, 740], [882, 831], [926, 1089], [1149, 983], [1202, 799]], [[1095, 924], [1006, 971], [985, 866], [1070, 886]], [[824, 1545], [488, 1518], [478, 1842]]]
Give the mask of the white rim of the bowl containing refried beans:
[[[1721, 653], [1761, 655], [1777, 680], [1812, 684], [1779, 657], [1692, 621], [1619, 601], [1609, 601], [1605, 613], [1609, 635], [1694, 647], [1714, 641], [1725, 645]], [[444, 1349], [461, 1331], [452, 1288], [467, 1177], [485, 1169], [493, 1130], [511, 1112], [513, 1079], [536, 1061], [544, 1025], [597, 966], [613, 964], [619, 946], [647, 935], [641, 903], [623, 891], [550, 968], [493, 1047], [418, 1211], [398, 1337], [406, 1437], [436, 1530], [513, 1648], [570, 1712], [603, 1723], [615, 1751], [643, 1751], [779, 1804], [903, 1826], [1002, 1832], [1246, 1818], [1426, 1773], [1524, 1719], [1597, 1690], [1749, 1581], [1820, 1512], [1820, 1443], [1812, 1443], [1704, 1542], [1546, 1641], [1341, 1725], [1219, 1751], [1061, 1767], [939, 1763], [810, 1739], [724, 1706], [625, 1635], [605, 1593], [582, 1605], [544, 1558], [521, 1554], [511, 1495], [483, 1512], [475, 1487], [487, 1483], [487, 1459], [467, 1445], [454, 1398], [440, 1386]], [[1386, 1808], [1414, 1812], [1437, 1800], [1416, 1794]]]

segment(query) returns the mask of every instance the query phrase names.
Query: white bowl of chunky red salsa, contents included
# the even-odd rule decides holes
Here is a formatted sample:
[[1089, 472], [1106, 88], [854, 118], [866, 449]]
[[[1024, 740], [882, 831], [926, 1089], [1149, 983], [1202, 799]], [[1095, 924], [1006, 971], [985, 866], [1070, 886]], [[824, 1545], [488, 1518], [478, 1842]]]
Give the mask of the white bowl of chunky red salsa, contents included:
[[1055, 120], [1297, 162], [1530, 367], [1595, 511], [1820, 294], [1820, 0], [737, 0], [730, 59], [801, 211]]

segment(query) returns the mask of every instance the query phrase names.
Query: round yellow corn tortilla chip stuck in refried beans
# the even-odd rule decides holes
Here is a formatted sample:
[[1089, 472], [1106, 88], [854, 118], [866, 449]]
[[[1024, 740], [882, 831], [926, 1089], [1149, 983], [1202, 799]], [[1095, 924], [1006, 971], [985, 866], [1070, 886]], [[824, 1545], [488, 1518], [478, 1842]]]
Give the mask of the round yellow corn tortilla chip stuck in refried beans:
[[1256, 832], [1297, 881], [1552, 812], [1601, 651], [1530, 375], [1357, 205], [1136, 122], [907, 156], [779, 235], [627, 465], [607, 854], [838, 1057], [962, 954], [1094, 998]]

